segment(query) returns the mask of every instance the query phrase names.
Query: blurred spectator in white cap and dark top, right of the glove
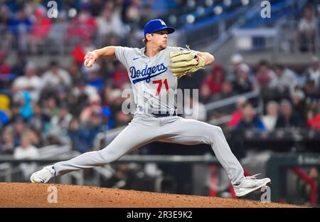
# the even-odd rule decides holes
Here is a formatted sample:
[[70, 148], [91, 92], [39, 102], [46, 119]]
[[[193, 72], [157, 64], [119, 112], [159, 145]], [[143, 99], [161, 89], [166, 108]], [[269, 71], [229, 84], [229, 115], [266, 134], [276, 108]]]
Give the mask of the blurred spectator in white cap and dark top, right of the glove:
[[238, 71], [235, 74], [235, 81], [233, 82], [233, 89], [235, 92], [242, 94], [253, 90], [253, 83], [250, 80], [250, 68], [248, 65], [245, 63], [240, 64]]

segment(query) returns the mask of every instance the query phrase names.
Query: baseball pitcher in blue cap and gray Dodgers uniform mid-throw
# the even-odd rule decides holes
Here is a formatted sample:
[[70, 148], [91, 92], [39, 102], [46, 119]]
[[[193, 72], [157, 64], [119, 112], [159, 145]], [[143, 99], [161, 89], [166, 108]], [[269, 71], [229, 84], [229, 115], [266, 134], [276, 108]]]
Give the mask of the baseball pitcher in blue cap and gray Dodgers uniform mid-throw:
[[144, 26], [144, 48], [107, 46], [85, 55], [88, 68], [98, 58], [117, 58], [127, 68], [137, 107], [134, 118], [104, 149], [45, 166], [31, 175], [33, 183], [46, 183], [53, 176], [110, 164], [124, 154], [155, 141], [209, 144], [227, 171], [236, 196], [245, 196], [270, 183], [269, 178], [243, 175], [242, 166], [231, 152], [220, 127], [176, 115], [178, 78], [205, 68], [215, 58], [210, 53], [167, 46], [168, 35], [174, 31], [161, 19], [154, 19]]

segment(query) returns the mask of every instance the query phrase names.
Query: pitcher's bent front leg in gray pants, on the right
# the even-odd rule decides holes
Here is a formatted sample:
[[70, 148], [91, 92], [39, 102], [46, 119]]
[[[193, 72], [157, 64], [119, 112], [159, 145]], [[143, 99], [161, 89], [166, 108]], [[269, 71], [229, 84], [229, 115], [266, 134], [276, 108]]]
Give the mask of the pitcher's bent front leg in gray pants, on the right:
[[209, 144], [220, 164], [227, 171], [232, 184], [239, 184], [243, 179], [243, 169], [231, 152], [225, 135], [220, 127], [209, 125], [198, 120], [178, 120], [161, 127], [162, 142], [175, 142], [179, 144]]

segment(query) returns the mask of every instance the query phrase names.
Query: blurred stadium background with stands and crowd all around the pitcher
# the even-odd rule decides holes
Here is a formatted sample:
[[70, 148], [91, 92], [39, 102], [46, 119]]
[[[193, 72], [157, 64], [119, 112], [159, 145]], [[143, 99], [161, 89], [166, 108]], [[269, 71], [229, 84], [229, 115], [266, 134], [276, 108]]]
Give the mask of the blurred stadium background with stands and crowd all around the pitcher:
[[[319, 204], [319, 1], [270, 1], [270, 18], [252, 0], [56, 2], [58, 18], [48, 18], [48, 1], [0, 1], [0, 181], [28, 181], [41, 160], [102, 149], [129, 123], [127, 71], [117, 60], [87, 69], [83, 57], [108, 45], [142, 47], [146, 21], [162, 18], [177, 29], [170, 46], [216, 59], [181, 78], [180, 88], [199, 89], [198, 115], [183, 116], [223, 127], [246, 174], [274, 181], [272, 201]], [[153, 143], [134, 154], [213, 152]], [[218, 164], [174, 160], [118, 162], [55, 182], [234, 197]]]

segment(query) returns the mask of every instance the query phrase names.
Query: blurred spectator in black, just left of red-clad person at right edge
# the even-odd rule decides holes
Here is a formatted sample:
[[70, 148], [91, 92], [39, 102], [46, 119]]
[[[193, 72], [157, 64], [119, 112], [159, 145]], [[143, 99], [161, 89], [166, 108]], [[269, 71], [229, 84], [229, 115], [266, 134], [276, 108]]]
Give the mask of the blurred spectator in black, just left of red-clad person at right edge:
[[303, 127], [302, 118], [292, 110], [288, 100], [282, 100], [280, 104], [280, 115], [278, 116], [276, 128]]

